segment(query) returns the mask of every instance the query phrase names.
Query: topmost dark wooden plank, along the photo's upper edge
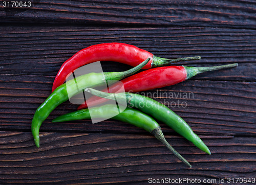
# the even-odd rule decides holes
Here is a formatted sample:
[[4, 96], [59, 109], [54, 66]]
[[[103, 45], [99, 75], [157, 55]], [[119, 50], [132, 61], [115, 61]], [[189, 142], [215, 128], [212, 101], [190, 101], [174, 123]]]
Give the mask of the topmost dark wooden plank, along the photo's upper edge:
[[29, 8], [1, 5], [3, 22], [233, 27], [255, 29], [254, 1], [31, 1]]

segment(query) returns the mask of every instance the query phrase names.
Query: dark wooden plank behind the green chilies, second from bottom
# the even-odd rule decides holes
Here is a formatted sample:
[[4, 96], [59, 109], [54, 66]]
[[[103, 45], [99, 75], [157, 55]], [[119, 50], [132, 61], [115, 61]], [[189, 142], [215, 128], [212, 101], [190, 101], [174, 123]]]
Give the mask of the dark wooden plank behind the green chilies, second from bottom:
[[[206, 75], [207, 76], [207, 75]], [[51, 93], [52, 77], [0, 75], [0, 128], [30, 130], [36, 108]], [[174, 86], [141, 92], [167, 105], [201, 135], [255, 135], [256, 82], [188, 80]], [[51, 123], [58, 115], [75, 111], [65, 102], [42, 124], [42, 131], [137, 132], [142, 129], [119, 121], [91, 124], [90, 120]], [[167, 133], [172, 129], [161, 124]]]

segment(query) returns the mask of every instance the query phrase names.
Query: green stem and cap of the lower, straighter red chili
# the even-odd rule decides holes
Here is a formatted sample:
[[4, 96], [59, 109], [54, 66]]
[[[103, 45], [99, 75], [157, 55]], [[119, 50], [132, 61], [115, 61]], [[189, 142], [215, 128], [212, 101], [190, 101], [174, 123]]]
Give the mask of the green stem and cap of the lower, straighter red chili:
[[[200, 73], [215, 71], [215, 70], [222, 70], [224, 68], [236, 67], [238, 63], [232, 63], [227, 65], [219, 65], [219, 66], [211, 66], [211, 67], [189, 67], [183, 66], [187, 72], [187, 79], [194, 77]], [[186, 80], [187, 80], [186, 79]]]

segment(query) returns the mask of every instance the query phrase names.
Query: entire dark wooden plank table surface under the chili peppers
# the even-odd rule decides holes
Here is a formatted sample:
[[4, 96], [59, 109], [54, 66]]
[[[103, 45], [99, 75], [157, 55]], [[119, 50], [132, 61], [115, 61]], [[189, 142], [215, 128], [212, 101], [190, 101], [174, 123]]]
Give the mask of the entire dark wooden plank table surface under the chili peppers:
[[[31, 7], [7, 8], [3, 2], [0, 7], [1, 184], [147, 184], [153, 180], [252, 184], [256, 177], [255, 1], [31, 2]], [[239, 63], [147, 91], [162, 90], [169, 96], [191, 92], [191, 97], [155, 99], [180, 115], [211, 155], [163, 123], [159, 124], [167, 141], [191, 163], [191, 169], [153, 135], [126, 123], [51, 123], [58, 115], [76, 110], [77, 105], [69, 102], [58, 106], [42, 124], [41, 145], [35, 147], [31, 120], [51, 94], [59, 67], [79, 50], [102, 42], [133, 44], [164, 58], [202, 57], [179, 65]], [[104, 71], [130, 68], [111, 61], [102, 66]], [[175, 106], [177, 102], [186, 106]]]

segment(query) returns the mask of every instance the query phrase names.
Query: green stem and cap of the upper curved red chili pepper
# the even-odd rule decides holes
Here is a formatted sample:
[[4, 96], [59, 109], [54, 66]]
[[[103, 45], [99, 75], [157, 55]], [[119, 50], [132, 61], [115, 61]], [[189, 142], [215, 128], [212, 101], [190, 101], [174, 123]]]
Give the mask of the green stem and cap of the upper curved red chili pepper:
[[196, 57], [184, 57], [184, 58], [175, 58], [175, 59], [167, 59], [167, 58], [161, 58], [153, 55], [153, 61], [151, 63], [151, 67], [160, 67], [164, 65], [169, 65], [172, 63], [180, 62], [180, 61], [189, 61], [189, 60], [200, 60], [200, 56]]

